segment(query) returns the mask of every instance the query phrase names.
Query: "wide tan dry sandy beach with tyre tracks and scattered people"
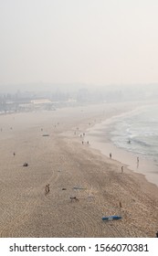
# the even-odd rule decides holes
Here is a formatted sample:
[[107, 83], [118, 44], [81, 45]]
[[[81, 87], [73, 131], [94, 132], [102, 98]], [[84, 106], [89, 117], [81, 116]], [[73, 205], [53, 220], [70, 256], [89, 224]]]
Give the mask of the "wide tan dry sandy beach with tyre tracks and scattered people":
[[[155, 237], [158, 187], [126, 165], [121, 173], [121, 162], [87, 137], [96, 123], [134, 108], [105, 103], [1, 115], [0, 237]], [[121, 219], [101, 219], [110, 215]]]

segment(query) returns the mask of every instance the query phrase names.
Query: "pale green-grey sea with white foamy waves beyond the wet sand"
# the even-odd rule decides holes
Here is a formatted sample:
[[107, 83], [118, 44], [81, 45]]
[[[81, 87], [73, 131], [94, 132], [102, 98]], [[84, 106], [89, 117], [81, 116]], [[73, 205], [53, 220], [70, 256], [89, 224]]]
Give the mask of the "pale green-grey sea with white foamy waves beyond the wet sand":
[[158, 165], [158, 104], [114, 118], [111, 142]]

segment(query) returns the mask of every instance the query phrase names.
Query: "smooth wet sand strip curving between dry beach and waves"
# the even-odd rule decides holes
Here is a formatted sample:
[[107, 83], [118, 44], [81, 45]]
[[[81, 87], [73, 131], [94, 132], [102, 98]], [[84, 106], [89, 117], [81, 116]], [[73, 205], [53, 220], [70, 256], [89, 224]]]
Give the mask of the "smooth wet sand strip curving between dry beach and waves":
[[[110, 131], [113, 123], [115, 123], [113, 119], [129, 116], [133, 112], [140, 112], [143, 107], [144, 106], [135, 108], [130, 112], [122, 112], [108, 120], [97, 123], [87, 130], [87, 139], [90, 141], [90, 146], [92, 148], [99, 150], [101, 154], [106, 155], [109, 158], [111, 153], [111, 160], [118, 161], [118, 163], [120, 163], [119, 165], [125, 165], [134, 173], [145, 176], [147, 181], [158, 187], [158, 167], [154, 165], [151, 159], [146, 159], [143, 155], [137, 155], [132, 151], [118, 147], [111, 141]], [[137, 157], [139, 157], [139, 162], [137, 162]]]

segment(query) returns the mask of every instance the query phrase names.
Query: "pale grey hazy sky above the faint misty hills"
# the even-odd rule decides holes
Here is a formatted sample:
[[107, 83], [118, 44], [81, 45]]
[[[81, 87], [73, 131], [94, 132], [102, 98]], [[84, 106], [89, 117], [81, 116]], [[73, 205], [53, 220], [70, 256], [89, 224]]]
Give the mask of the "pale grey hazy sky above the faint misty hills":
[[158, 82], [158, 0], [0, 0], [0, 84]]

